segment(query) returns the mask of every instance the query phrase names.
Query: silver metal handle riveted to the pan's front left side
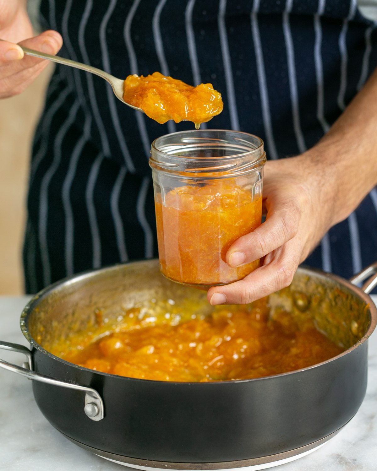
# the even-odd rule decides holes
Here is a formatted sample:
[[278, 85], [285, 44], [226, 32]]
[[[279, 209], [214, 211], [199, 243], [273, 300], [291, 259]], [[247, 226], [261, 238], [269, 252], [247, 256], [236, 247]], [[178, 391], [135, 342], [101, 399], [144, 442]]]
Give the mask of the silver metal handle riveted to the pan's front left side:
[[44, 374], [39, 374], [33, 371], [32, 368], [32, 354], [31, 351], [24, 345], [18, 345], [16, 343], [0, 341], [0, 349], [10, 350], [15, 353], [22, 353], [27, 357], [27, 363], [23, 366], [13, 365], [0, 358], [0, 367], [5, 370], [11, 371], [12, 373], [21, 374], [29, 380], [44, 382], [46, 384], [53, 384], [61, 388], [74, 389], [85, 392], [85, 406], [84, 412], [90, 418], [90, 420], [98, 421], [104, 418], [104, 405], [101, 396], [98, 392], [92, 388], [86, 386], [80, 386], [79, 384], [65, 382], [50, 378]]

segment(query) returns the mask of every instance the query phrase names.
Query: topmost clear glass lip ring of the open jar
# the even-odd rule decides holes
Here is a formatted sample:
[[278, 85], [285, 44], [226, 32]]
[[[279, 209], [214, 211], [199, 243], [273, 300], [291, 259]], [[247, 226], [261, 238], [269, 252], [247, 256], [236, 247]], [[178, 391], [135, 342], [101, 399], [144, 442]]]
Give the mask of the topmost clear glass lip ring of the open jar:
[[[244, 136], [247, 136], [248, 138], [254, 138], [255, 140], [259, 141], [259, 145], [257, 147], [250, 147], [249, 150], [245, 150], [245, 152], [240, 152], [238, 154], [231, 154], [231, 155], [224, 155], [224, 156], [218, 156], [218, 157], [214, 157], [214, 156], [210, 156], [210, 157], [198, 157], [198, 156], [182, 156], [182, 155], [176, 155], [176, 154], [169, 154], [167, 152], [164, 152], [163, 150], [159, 149], [157, 147], [157, 143], [159, 140], [162, 140], [164, 138], [167, 138], [168, 136], [169, 137], [173, 137], [173, 136], [177, 136], [177, 135], [189, 135], [189, 134], [201, 134], [201, 133], [208, 133], [208, 132], [218, 132], [218, 133], [225, 133], [225, 132], [232, 132], [234, 134], [237, 134], [237, 135], [244, 135]], [[194, 138], [192, 137], [192, 139], [199, 139], [198, 137], [197, 138]], [[200, 138], [200, 139], [205, 139], [206, 141], [208, 140], [212, 140], [213, 141], [225, 141], [225, 139], [221, 139], [221, 138]], [[187, 143], [189, 144], [189, 143]], [[194, 144], [194, 142], [191, 142], [190, 144]], [[252, 144], [251, 143], [247, 143], [246, 141], [244, 142], [244, 145], [248, 144], [249, 146], [251, 146]], [[183, 145], [186, 145], [186, 144], [183, 144]], [[175, 146], [178, 146], [177, 144]], [[185, 159], [198, 159], [198, 160], [213, 160], [213, 159], [219, 159], [221, 161], [226, 161], [226, 160], [231, 160], [231, 159], [238, 159], [238, 158], [242, 158], [242, 157], [245, 157], [246, 155], [250, 155], [250, 154], [258, 154], [260, 153], [260, 159], [262, 160], [263, 159], [263, 146], [264, 146], [264, 143], [263, 143], [263, 140], [256, 136], [255, 134], [251, 134], [249, 132], [245, 132], [245, 131], [233, 131], [233, 130], [226, 130], [226, 129], [198, 129], [198, 130], [186, 130], [186, 131], [177, 131], [177, 132], [172, 132], [170, 134], [164, 134], [164, 136], [160, 136], [159, 138], [156, 138], [153, 142], [152, 142], [152, 145], [151, 145], [151, 152], [155, 151], [157, 154], [161, 154], [161, 155], [165, 155], [166, 157], [177, 157], [177, 158], [185, 158]], [[179, 148], [179, 147], [177, 147]], [[259, 159], [256, 159], [256, 161], [254, 163], [257, 163]]]

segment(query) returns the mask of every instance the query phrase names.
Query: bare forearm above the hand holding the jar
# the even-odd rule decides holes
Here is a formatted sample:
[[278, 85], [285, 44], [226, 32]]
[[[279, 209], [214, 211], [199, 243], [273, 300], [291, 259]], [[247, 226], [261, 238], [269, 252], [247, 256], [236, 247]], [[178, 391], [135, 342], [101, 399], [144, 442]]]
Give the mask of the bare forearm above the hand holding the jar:
[[328, 133], [305, 154], [322, 168], [324, 191], [333, 195], [331, 225], [336, 224], [377, 185], [377, 69]]

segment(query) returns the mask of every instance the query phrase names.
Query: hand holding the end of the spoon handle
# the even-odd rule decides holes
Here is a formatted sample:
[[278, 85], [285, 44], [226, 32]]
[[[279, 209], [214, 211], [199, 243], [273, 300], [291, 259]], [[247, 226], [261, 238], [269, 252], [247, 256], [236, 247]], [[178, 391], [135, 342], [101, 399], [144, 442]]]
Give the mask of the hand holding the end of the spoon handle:
[[[29, 39], [26, 39], [29, 38]], [[33, 37], [33, 27], [24, 0], [0, 0], [0, 98], [25, 90], [49, 61], [25, 56], [16, 44], [55, 55], [63, 44], [56, 31]]]

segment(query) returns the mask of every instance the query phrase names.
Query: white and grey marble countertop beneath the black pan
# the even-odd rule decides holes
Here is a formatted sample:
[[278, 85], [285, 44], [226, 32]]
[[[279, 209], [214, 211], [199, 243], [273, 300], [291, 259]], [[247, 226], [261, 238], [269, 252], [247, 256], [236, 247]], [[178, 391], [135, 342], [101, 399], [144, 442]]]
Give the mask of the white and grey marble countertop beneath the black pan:
[[[377, 301], [377, 297], [374, 297]], [[27, 297], [0, 297], [0, 339], [27, 345], [19, 317]], [[21, 364], [24, 357], [1, 350], [1, 357]], [[55, 430], [39, 411], [25, 378], [0, 370], [0, 470], [122, 470], [77, 447]], [[344, 429], [311, 455], [272, 468], [276, 471], [377, 469], [377, 334], [369, 341], [367, 395]]]

